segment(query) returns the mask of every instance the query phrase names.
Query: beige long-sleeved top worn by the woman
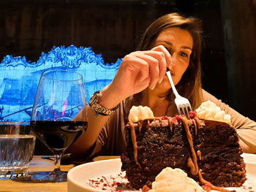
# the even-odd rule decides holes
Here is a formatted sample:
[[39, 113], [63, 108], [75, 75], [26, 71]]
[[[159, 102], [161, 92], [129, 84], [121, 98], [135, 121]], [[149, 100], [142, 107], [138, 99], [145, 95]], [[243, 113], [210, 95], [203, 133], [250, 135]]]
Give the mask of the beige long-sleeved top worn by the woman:
[[[244, 117], [233, 110], [221, 100], [203, 90], [203, 101], [212, 101], [223, 111], [231, 116], [231, 124], [236, 128], [240, 138], [240, 145], [244, 153], [256, 153], [256, 122]], [[108, 118], [105, 126], [94, 144], [94, 149], [89, 155], [120, 155], [125, 151], [125, 125], [128, 123], [130, 108], [140, 105], [139, 99], [126, 99], [119, 104], [118, 110]], [[176, 105], [170, 104], [167, 116], [174, 117], [178, 114]]]

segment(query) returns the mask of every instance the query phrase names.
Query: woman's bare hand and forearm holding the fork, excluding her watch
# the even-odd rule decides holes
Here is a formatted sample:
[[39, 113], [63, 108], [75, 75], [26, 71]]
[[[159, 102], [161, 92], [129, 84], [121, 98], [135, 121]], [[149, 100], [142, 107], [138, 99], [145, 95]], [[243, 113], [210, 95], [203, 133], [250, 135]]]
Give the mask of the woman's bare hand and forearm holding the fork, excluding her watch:
[[[157, 82], [165, 77], [170, 53], [162, 45], [152, 50], [136, 51], [126, 55], [113, 81], [99, 93], [99, 104], [107, 109], [116, 107], [122, 100], [149, 87], [154, 89]], [[87, 112], [87, 115], [86, 115]], [[83, 107], [76, 120], [88, 120], [87, 131], [71, 146], [69, 151], [76, 155], [86, 155], [99, 136], [109, 116], [95, 116], [89, 106]]]

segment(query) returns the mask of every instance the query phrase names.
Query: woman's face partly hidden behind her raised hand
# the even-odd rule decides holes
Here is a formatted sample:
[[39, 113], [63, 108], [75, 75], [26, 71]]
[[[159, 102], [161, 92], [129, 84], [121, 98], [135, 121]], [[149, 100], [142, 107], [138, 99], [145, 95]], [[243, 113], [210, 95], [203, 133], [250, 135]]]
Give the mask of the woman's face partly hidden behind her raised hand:
[[[166, 28], [159, 34], [153, 47], [158, 45], [163, 45], [172, 57], [172, 62], [167, 64], [167, 68], [173, 77], [174, 85], [177, 85], [189, 66], [189, 58], [193, 47], [192, 36], [188, 31], [181, 28]], [[170, 82], [166, 75], [160, 84], [157, 83], [156, 88], [166, 91], [170, 89]]]

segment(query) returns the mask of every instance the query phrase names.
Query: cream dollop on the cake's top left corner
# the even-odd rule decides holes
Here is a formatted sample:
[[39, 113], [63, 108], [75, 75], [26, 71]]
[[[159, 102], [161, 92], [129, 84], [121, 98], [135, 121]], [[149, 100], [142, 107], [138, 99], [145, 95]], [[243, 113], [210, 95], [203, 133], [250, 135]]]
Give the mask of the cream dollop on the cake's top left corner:
[[154, 114], [152, 110], [149, 107], [143, 107], [143, 106], [132, 106], [131, 110], [129, 110], [129, 122], [136, 123], [140, 120], [146, 120], [154, 118]]

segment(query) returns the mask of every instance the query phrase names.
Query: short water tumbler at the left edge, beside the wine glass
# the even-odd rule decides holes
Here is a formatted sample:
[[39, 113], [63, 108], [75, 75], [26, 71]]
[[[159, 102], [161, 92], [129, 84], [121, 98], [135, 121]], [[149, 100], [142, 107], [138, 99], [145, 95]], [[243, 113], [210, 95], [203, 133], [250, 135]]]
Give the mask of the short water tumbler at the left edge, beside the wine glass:
[[28, 174], [35, 140], [29, 123], [0, 122], [0, 180]]

